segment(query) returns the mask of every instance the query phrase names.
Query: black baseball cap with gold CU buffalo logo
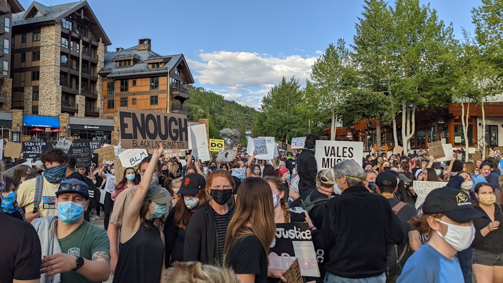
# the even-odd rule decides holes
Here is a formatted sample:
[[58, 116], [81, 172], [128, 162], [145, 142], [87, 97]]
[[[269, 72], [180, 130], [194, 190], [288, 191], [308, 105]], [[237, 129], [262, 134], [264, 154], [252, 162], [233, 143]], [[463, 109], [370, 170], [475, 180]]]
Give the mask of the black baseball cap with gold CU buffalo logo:
[[423, 213], [443, 213], [453, 221], [463, 223], [484, 214], [473, 208], [470, 197], [461, 190], [441, 187], [431, 191], [423, 203]]

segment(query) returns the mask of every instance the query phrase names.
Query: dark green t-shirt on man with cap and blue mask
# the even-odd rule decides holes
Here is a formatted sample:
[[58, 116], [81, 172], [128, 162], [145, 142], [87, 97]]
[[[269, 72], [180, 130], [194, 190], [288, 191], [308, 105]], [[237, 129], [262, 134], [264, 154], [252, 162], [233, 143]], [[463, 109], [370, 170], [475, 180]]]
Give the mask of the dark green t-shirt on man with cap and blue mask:
[[[89, 260], [93, 260], [95, 252], [106, 251], [110, 253], [110, 241], [105, 230], [87, 221], [82, 222], [70, 235], [58, 239], [58, 241], [63, 253]], [[89, 283], [93, 281], [80, 275], [77, 271], [68, 271], [61, 273], [61, 282]]]

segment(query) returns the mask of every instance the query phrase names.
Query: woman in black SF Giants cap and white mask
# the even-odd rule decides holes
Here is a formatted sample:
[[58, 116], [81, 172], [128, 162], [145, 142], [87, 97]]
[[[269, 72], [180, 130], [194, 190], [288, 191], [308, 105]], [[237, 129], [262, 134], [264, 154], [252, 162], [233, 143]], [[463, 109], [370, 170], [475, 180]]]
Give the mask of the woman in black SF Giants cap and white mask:
[[[184, 260], [185, 232], [189, 220], [196, 209], [208, 200], [206, 180], [198, 173], [184, 176], [180, 190], [177, 191], [177, 206], [170, 211], [163, 228], [166, 239], [164, 262], [166, 268], [173, 266], [175, 261]], [[175, 194], [175, 193], [174, 193]]]

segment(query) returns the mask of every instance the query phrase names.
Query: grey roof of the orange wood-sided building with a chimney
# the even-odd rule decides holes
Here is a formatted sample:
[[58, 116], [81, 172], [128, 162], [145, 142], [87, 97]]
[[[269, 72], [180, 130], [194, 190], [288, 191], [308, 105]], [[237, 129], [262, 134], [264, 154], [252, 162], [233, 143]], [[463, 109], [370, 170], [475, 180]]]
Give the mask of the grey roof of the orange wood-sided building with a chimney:
[[[135, 63], [131, 66], [117, 67], [117, 63], [113, 61], [114, 58], [118, 59], [130, 56], [135, 58]], [[164, 62], [164, 65], [160, 68], [149, 69], [148, 63], [145, 61], [154, 59]], [[105, 53], [104, 67], [98, 73], [106, 75], [108, 78], [167, 74], [173, 71], [182, 62], [186, 66], [184, 71], [186, 72], [185, 78], [187, 79], [187, 83], [194, 83], [194, 78], [192, 77], [183, 54], [162, 56], [151, 50], [138, 50], [138, 46], [133, 46], [117, 52]]]

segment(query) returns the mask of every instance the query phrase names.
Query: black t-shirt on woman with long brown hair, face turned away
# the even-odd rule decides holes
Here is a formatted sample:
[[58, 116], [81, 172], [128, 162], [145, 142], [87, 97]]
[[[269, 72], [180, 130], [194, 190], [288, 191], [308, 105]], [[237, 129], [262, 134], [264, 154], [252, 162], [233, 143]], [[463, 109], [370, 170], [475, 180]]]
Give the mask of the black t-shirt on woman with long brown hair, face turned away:
[[256, 236], [246, 236], [230, 249], [227, 264], [236, 274], [255, 274], [255, 282], [266, 282], [267, 256]]

